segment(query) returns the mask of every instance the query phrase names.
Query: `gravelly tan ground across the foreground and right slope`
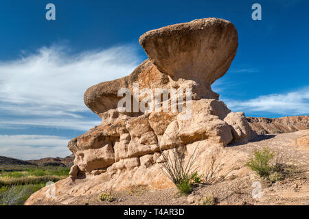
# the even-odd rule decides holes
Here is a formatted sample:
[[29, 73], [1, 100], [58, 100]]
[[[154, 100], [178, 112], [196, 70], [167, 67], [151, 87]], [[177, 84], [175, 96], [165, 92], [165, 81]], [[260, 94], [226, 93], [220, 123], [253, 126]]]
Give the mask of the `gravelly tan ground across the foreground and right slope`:
[[[309, 205], [309, 130], [293, 133], [271, 134], [258, 136], [248, 144], [229, 145], [226, 150], [245, 152], [251, 157], [256, 149], [267, 147], [275, 152], [276, 159], [282, 164], [290, 165], [291, 170], [286, 179], [271, 183], [261, 179], [254, 172], [246, 169], [242, 177], [229, 175], [225, 181], [214, 185], [198, 185], [189, 196], [181, 196], [176, 188], [151, 190], [144, 186], [131, 186], [126, 190], [101, 190], [86, 196], [71, 196], [66, 200], [56, 201], [52, 198], [41, 198], [35, 205], [198, 205], [201, 198], [214, 196], [215, 205]], [[306, 138], [306, 142], [297, 144], [299, 139]], [[228, 157], [232, 159], [232, 157]], [[239, 161], [244, 164], [248, 158]], [[62, 181], [66, 181], [62, 180]], [[253, 182], [262, 185], [262, 197], [253, 198]], [[110, 192], [115, 200], [111, 203], [98, 201], [100, 192]], [[33, 198], [36, 198], [34, 196]], [[28, 204], [31, 200], [28, 200]]]

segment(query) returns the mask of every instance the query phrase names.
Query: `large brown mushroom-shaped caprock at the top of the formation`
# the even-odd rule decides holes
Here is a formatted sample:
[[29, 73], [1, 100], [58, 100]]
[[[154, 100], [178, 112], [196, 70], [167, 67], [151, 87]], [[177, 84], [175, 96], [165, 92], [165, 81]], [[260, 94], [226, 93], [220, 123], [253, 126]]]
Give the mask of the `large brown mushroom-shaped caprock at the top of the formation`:
[[205, 18], [148, 31], [139, 43], [162, 73], [210, 86], [229, 69], [238, 34], [229, 21]]

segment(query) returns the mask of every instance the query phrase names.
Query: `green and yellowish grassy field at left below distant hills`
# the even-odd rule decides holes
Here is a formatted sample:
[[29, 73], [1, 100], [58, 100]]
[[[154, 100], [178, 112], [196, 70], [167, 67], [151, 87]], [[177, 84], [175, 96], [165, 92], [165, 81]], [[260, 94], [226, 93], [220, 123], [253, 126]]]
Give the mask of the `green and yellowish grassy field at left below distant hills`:
[[23, 205], [47, 182], [69, 176], [69, 168], [55, 166], [0, 166], [0, 205]]

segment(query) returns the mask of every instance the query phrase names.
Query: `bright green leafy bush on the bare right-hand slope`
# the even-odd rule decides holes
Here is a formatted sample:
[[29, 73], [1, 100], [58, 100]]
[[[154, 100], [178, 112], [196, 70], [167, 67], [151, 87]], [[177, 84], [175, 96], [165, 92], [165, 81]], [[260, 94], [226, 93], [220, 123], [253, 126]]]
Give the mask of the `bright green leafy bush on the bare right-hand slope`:
[[266, 148], [260, 151], [257, 150], [254, 152], [253, 158], [247, 162], [246, 166], [257, 172], [260, 177], [268, 177], [273, 171], [273, 166], [270, 164], [273, 157], [274, 153], [268, 151]]

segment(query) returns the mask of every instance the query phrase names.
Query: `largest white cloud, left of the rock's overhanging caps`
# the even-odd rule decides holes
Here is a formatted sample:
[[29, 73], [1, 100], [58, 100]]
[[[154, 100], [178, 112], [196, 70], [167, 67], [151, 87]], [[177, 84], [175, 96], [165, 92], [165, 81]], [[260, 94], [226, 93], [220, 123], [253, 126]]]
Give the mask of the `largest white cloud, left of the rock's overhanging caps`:
[[[84, 121], [89, 119], [80, 113], [91, 112], [83, 101], [87, 88], [128, 75], [139, 64], [130, 46], [78, 55], [65, 51], [67, 48], [43, 47], [19, 60], [0, 61], [0, 114], [4, 115], [0, 123], [18, 125], [20, 121], [21, 125], [69, 129], [76, 123], [77, 129], [84, 130]], [[8, 115], [24, 118], [12, 120]]]

